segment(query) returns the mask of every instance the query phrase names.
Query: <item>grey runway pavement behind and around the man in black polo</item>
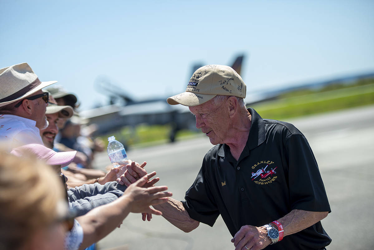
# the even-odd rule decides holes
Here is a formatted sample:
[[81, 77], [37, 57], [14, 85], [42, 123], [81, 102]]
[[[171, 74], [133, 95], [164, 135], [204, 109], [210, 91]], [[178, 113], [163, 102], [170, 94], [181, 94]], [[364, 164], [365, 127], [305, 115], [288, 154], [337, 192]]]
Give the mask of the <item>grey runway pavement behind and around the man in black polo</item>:
[[[322, 220], [332, 243], [328, 250], [374, 248], [374, 106], [287, 120], [306, 136], [318, 161], [332, 212]], [[184, 199], [193, 183], [209, 139], [199, 137], [173, 144], [129, 150], [132, 160], [147, 161], [146, 169], [157, 171], [158, 185], [167, 185], [173, 197]], [[110, 164], [108, 156], [96, 156], [95, 164]], [[248, 211], [250, 213], [250, 211]], [[175, 228], [161, 216], [143, 222], [140, 214], [130, 214], [107, 237], [100, 250], [117, 246], [138, 250], [234, 249], [231, 235], [221, 217], [211, 228], [200, 223], [190, 233]]]

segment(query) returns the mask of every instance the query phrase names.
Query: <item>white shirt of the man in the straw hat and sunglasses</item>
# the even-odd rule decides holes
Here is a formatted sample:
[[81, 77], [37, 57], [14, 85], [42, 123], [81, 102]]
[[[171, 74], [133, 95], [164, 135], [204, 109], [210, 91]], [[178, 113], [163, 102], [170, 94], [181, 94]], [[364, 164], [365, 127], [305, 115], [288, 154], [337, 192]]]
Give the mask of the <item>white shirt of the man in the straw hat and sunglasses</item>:
[[44, 145], [36, 121], [15, 115], [0, 115], [0, 146], [13, 148], [36, 143]]

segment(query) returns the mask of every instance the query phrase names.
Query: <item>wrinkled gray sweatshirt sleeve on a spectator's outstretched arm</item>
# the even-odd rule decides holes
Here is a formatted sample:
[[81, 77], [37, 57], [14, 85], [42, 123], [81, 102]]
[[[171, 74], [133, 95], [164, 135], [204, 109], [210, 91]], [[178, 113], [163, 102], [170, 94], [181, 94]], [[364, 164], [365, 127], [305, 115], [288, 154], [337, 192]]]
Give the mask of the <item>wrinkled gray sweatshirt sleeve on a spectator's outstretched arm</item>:
[[69, 206], [73, 208], [77, 216], [88, 213], [92, 208], [108, 204], [123, 195], [125, 185], [117, 182], [84, 184], [70, 188], [68, 192]]

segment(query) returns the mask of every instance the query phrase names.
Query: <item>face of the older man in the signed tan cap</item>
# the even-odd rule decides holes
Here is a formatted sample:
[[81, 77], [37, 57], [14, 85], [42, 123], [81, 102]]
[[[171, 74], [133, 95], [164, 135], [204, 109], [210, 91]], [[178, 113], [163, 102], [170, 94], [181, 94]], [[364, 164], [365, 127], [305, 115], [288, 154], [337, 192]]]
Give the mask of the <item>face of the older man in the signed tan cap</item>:
[[218, 105], [215, 105], [213, 100], [209, 100], [189, 107], [191, 113], [195, 115], [196, 128], [201, 128], [213, 145], [225, 143], [226, 131], [229, 129], [226, 100]]

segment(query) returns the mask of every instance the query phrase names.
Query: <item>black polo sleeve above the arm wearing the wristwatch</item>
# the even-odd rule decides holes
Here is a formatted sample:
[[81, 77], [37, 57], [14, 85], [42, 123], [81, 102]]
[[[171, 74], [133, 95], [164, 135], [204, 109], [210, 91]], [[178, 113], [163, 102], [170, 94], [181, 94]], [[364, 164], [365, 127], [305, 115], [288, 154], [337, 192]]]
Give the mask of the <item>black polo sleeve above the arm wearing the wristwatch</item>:
[[291, 135], [286, 151], [291, 209], [331, 212], [317, 161], [304, 135]]

